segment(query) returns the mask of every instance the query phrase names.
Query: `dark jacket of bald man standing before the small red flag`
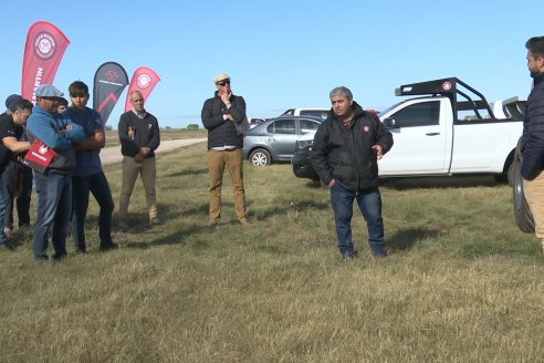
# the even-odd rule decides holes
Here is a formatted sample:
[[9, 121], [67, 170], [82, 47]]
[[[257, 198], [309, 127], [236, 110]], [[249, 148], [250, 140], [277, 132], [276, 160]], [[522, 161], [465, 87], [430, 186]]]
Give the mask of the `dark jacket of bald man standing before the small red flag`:
[[142, 147], [148, 147], [150, 152], [146, 157], [155, 157], [155, 151], [160, 145], [157, 117], [146, 113], [144, 118], [139, 118], [134, 111], [127, 111], [121, 115], [117, 132], [121, 142], [121, 154], [134, 157]]

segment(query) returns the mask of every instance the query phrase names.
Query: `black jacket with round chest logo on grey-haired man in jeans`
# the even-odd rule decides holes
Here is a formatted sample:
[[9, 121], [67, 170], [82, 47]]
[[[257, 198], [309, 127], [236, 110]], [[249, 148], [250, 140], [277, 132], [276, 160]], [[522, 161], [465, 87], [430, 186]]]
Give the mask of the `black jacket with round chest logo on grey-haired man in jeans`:
[[344, 128], [333, 111], [320, 125], [311, 152], [312, 166], [326, 184], [334, 178], [349, 190], [376, 188], [378, 163], [372, 147], [378, 144], [387, 153], [393, 135], [378, 116], [363, 111], [356, 102], [353, 108], [349, 129]]

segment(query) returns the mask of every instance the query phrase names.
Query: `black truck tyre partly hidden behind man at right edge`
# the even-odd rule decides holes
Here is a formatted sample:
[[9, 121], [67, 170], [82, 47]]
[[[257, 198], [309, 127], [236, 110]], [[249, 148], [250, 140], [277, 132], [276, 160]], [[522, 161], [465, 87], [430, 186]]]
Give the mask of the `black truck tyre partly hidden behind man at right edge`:
[[515, 148], [514, 160], [509, 170], [509, 182], [512, 185], [514, 218], [517, 228], [524, 234], [534, 234], [534, 220], [527, 200], [523, 194], [523, 177], [521, 175], [522, 155], [521, 155], [521, 138]]

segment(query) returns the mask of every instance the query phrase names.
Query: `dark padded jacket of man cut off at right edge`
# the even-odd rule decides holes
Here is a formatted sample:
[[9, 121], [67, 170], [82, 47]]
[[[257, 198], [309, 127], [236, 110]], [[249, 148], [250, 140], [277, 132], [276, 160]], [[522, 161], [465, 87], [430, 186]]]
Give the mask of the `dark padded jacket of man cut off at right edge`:
[[521, 174], [532, 180], [544, 168], [544, 73], [534, 79], [527, 97], [522, 137]]

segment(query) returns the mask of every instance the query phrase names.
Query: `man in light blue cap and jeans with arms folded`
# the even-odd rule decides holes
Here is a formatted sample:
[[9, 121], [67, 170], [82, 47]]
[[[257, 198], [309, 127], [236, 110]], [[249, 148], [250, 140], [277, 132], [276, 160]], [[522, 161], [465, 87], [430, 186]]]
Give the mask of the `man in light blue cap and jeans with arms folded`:
[[75, 166], [72, 144], [85, 138], [80, 125], [56, 113], [59, 97], [62, 95], [52, 84], [40, 85], [35, 90], [36, 105], [27, 124], [31, 144], [39, 139], [56, 153], [43, 174], [34, 170], [38, 216], [32, 246], [36, 261], [49, 259], [50, 232], [54, 248], [53, 259], [66, 256], [66, 225], [72, 212], [72, 168]]

